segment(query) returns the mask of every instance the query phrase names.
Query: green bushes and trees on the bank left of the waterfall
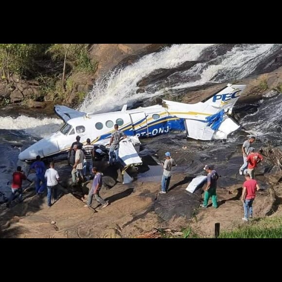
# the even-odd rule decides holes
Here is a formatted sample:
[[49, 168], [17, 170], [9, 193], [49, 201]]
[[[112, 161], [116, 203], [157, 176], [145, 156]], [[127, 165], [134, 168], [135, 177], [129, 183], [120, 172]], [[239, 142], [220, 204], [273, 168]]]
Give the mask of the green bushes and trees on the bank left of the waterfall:
[[[93, 74], [97, 63], [88, 55], [91, 44], [0, 44], [0, 81], [14, 84], [18, 78], [35, 79], [39, 93], [29, 97], [35, 101], [62, 102], [75, 91], [71, 74]], [[81, 103], [86, 93], [77, 93]], [[1, 100], [6, 105], [9, 100]]]

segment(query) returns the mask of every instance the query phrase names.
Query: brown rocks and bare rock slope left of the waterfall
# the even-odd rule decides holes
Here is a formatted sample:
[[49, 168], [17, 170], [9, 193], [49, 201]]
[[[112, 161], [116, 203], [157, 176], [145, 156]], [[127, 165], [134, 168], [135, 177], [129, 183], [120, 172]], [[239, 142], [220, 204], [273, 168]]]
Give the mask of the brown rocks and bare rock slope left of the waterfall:
[[[97, 69], [87, 74], [83, 71], [72, 71], [68, 74], [69, 84], [59, 103], [76, 105], [93, 88], [96, 80], [101, 79], [108, 71], [134, 62], [141, 55], [152, 53], [168, 44], [92, 44], [88, 54]], [[46, 63], [46, 70], [50, 66]], [[63, 69], [62, 69], [63, 70]], [[62, 71], [61, 70], [61, 71]], [[44, 70], [43, 70], [44, 71]], [[52, 80], [52, 78], [50, 77]], [[42, 79], [24, 79], [11, 75], [9, 83], [0, 81], [0, 105], [20, 104], [31, 108], [45, 108], [45, 102], [54, 102], [54, 93], [46, 91]]]

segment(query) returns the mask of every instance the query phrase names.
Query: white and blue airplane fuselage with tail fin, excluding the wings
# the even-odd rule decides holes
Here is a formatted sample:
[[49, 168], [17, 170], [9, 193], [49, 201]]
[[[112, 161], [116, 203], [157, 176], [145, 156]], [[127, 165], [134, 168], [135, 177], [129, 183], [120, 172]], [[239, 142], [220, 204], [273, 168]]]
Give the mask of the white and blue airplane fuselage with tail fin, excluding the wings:
[[[186, 130], [188, 137], [211, 140], [214, 130], [207, 126], [206, 117], [222, 109], [230, 112], [241, 94], [239, 92], [244, 88], [245, 86], [228, 85], [209, 100], [196, 104], [163, 100], [163, 106], [155, 105], [132, 110], [126, 110], [124, 107], [122, 111], [86, 114], [72, 118], [59, 131], [21, 152], [18, 158], [32, 160], [37, 155], [50, 157], [67, 152], [77, 135], [80, 136], [82, 143], [86, 143], [88, 138], [92, 144], [108, 143], [116, 123], [119, 125], [119, 130], [127, 136], [137, 135], [139, 138], [147, 138], [168, 133], [170, 130]], [[231, 131], [236, 130], [238, 128], [236, 126]], [[228, 127], [230, 131], [232, 127], [229, 123]]]

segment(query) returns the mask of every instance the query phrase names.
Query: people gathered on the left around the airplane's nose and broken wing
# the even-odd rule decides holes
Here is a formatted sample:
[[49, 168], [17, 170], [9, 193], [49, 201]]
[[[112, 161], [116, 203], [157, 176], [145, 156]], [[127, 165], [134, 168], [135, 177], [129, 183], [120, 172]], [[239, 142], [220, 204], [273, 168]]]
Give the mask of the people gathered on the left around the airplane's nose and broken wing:
[[[119, 161], [118, 151], [119, 143], [126, 138], [126, 135], [119, 130], [118, 124], [114, 125], [115, 130], [112, 132], [110, 139], [109, 150], [109, 164]], [[74, 184], [78, 183], [79, 178], [86, 180], [87, 169], [89, 169], [89, 175], [93, 179], [92, 187], [88, 193], [88, 203], [84, 207], [90, 207], [92, 204], [93, 196], [97, 202], [102, 204], [102, 208], [105, 208], [109, 203], [100, 197], [99, 192], [102, 188], [102, 174], [98, 171], [97, 167], [93, 167], [93, 159], [96, 155], [101, 154], [98, 150], [94, 149], [90, 139], [87, 139], [86, 145], [80, 142], [80, 136], [76, 137], [76, 141], [72, 143], [71, 149], [68, 155], [68, 161], [72, 166], [71, 176]], [[29, 171], [35, 171], [35, 193], [39, 197], [42, 197], [47, 189], [47, 206], [52, 205], [52, 195], [55, 203], [58, 200], [58, 181], [59, 174], [54, 169], [54, 162], [50, 163], [50, 168], [46, 170], [44, 162], [40, 156], [36, 157], [35, 162], [30, 166]], [[21, 201], [23, 196], [22, 181], [29, 180], [21, 169], [21, 166], [17, 167], [17, 171], [13, 173], [13, 181], [11, 185], [12, 194], [8, 199], [7, 207], [10, 207], [11, 202], [18, 194], [18, 198]]]

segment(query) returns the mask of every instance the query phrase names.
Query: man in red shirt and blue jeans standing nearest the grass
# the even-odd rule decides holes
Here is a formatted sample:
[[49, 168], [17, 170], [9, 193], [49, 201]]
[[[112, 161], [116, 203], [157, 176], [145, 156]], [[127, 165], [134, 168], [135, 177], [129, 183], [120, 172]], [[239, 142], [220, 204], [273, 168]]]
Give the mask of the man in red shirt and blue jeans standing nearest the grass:
[[248, 221], [253, 217], [253, 201], [256, 197], [256, 192], [260, 190], [260, 187], [255, 179], [251, 179], [250, 175], [246, 173], [246, 181], [243, 184], [243, 192], [241, 201], [244, 203], [244, 221]]

